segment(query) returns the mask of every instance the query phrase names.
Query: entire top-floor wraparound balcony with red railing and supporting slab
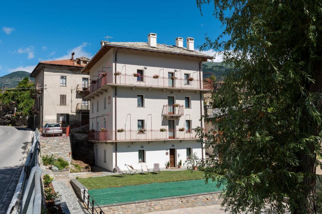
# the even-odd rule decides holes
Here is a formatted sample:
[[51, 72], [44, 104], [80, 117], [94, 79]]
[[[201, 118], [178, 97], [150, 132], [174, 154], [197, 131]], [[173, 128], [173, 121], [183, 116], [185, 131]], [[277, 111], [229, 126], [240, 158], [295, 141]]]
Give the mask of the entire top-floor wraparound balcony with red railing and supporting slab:
[[[106, 91], [109, 86], [122, 85], [124, 87], [132, 87], [135, 90], [137, 87], [159, 88], [163, 91], [167, 89], [183, 90], [195, 90], [195, 91], [207, 91], [207, 87], [203, 87], [203, 81], [200, 80], [188, 80], [180, 79], [176, 77], [155, 77], [133, 74], [121, 74], [121, 73], [106, 73], [105, 76], [100, 77], [98, 80], [93, 80], [91, 85], [84, 90], [85, 96], [91, 95], [94, 92], [101, 93], [101, 90]], [[93, 94], [94, 96], [96, 94]]]

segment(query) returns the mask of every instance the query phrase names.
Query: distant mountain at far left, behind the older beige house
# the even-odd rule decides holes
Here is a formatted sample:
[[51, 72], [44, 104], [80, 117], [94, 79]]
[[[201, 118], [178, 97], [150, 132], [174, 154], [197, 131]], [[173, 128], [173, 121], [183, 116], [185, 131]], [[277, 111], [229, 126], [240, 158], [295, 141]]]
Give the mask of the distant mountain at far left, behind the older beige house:
[[30, 80], [34, 81], [33, 77], [29, 77], [30, 73], [26, 71], [15, 71], [9, 73], [5, 76], [0, 77], [0, 89], [7, 88], [15, 88], [18, 85], [18, 82], [22, 81], [24, 77], [28, 77]]

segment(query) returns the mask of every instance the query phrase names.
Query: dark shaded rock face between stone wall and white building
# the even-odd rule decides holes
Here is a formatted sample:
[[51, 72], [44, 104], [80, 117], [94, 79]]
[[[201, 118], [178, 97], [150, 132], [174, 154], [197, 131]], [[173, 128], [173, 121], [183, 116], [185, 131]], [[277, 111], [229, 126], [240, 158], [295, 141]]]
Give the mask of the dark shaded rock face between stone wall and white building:
[[74, 160], [81, 160], [82, 162], [94, 166], [95, 154], [94, 144], [88, 141], [87, 134], [71, 133], [71, 154]]

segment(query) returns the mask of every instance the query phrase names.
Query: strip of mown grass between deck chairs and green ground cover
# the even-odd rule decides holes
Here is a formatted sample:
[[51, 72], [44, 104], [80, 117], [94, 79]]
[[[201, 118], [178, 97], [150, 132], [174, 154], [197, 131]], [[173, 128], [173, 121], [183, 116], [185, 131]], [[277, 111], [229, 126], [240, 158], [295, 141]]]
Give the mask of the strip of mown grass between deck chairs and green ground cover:
[[103, 177], [90, 177], [77, 179], [88, 189], [104, 189], [108, 187], [119, 187], [138, 184], [163, 183], [172, 181], [186, 181], [203, 179], [204, 172], [202, 171], [162, 171], [161, 174], [148, 175], [128, 175], [118, 177], [117, 175], [109, 175]]

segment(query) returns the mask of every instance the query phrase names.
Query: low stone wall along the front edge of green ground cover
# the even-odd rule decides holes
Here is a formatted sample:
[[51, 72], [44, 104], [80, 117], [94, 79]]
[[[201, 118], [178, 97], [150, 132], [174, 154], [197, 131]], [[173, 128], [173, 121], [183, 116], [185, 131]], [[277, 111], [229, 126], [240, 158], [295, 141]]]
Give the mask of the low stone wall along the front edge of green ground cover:
[[[139, 203], [123, 203], [119, 205], [100, 206], [106, 214], [117, 213], [148, 213], [161, 210], [172, 210], [185, 207], [197, 207], [221, 204], [219, 192], [168, 197], [160, 200], [144, 200]], [[99, 209], [96, 208], [99, 212]]]

